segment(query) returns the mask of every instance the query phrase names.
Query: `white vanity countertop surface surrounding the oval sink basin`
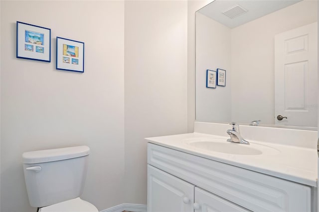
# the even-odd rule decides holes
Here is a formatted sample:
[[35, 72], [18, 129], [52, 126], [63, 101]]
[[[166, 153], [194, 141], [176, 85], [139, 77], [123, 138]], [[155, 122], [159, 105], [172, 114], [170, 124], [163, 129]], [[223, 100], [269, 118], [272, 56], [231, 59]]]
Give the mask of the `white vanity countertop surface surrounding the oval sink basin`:
[[[247, 139], [252, 146], [254, 144], [265, 145], [278, 151], [271, 155], [237, 155], [214, 152], [192, 147], [185, 142], [193, 138], [218, 138], [225, 139], [226, 136], [205, 133], [187, 133], [146, 138], [149, 142], [165, 146], [192, 155], [226, 163], [229, 165], [245, 168], [293, 182], [317, 187], [318, 178], [318, 152], [315, 148], [302, 146], [276, 144], [273, 142], [262, 142]], [[236, 144], [246, 145], [246, 144]]]

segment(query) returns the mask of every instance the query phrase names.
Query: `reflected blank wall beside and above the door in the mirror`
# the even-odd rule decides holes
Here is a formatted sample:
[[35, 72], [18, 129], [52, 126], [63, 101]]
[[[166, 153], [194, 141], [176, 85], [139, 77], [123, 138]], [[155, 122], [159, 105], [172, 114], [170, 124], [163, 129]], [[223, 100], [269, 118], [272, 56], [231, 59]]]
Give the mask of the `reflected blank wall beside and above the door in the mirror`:
[[317, 1], [304, 0], [232, 29], [232, 119], [275, 124], [274, 36], [317, 21]]

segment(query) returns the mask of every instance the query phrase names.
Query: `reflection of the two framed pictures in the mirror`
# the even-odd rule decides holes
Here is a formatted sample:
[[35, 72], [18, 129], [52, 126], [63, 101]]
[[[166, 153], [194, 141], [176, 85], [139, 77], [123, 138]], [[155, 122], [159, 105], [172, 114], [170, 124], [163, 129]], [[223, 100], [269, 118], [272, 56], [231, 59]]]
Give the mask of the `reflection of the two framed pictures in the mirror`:
[[206, 70], [206, 88], [216, 88], [217, 86], [226, 86], [226, 70], [217, 69], [217, 71]]

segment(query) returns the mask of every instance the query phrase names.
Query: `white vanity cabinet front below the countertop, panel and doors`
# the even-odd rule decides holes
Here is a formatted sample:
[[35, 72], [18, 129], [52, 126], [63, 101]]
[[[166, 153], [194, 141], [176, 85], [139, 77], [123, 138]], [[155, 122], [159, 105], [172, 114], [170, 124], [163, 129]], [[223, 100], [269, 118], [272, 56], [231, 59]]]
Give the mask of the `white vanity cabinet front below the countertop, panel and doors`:
[[312, 187], [148, 143], [148, 212], [311, 212]]

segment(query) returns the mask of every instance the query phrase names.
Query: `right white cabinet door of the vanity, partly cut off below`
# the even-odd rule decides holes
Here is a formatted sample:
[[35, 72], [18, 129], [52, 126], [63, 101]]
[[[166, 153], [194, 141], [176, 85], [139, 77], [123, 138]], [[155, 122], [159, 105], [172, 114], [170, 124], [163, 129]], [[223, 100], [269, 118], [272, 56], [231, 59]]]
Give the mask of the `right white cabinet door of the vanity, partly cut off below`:
[[210, 192], [195, 188], [195, 212], [250, 212]]

